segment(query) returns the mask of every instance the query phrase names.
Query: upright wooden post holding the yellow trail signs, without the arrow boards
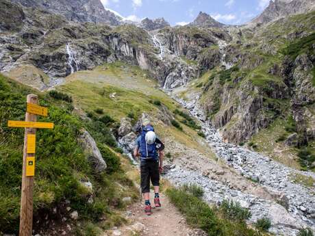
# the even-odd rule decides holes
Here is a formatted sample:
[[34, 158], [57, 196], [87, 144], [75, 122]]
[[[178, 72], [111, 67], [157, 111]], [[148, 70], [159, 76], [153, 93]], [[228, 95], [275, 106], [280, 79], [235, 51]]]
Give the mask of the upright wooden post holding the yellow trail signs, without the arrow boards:
[[[38, 96], [34, 94], [27, 95], [27, 103], [38, 104]], [[37, 115], [26, 112], [25, 114], [26, 122], [36, 122]], [[32, 137], [31, 135], [36, 134], [36, 129], [25, 128], [24, 134], [24, 148], [23, 148], [23, 174], [22, 174], [22, 191], [21, 191], [21, 213], [20, 213], [20, 236], [31, 236], [31, 231], [33, 227], [33, 186], [34, 186], [34, 176], [29, 176], [27, 173], [32, 170], [29, 164], [33, 164], [33, 169], [35, 165], [35, 152], [29, 152], [27, 150], [27, 137]], [[34, 137], [34, 136], [33, 136]], [[30, 140], [29, 140], [30, 142]], [[29, 144], [28, 146], [31, 146]], [[34, 145], [35, 148], [35, 145]], [[31, 162], [32, 161], [32, 162]]]

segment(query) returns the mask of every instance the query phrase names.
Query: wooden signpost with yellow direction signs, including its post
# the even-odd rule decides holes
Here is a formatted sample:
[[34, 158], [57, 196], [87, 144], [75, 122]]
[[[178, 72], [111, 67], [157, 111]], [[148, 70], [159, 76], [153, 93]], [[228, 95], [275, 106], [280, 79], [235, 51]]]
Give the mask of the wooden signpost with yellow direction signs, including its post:
[[25, 121], [8, 121], [8, 127], [25, 128], [21, 189], [20, 236], [31, 236], [33, 227], [33, 186], [35, 175], [36, 129], [53, 129], [53, 123], [36, 122], [37, 115], [48, 115], [47, 107], [40, 107], [37, 104], [37, 95], [27, 95], [27, 111], [25, 114]]

